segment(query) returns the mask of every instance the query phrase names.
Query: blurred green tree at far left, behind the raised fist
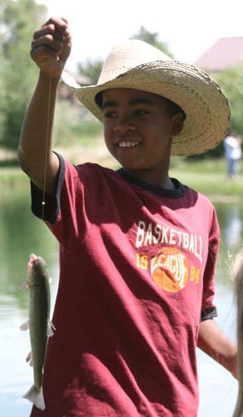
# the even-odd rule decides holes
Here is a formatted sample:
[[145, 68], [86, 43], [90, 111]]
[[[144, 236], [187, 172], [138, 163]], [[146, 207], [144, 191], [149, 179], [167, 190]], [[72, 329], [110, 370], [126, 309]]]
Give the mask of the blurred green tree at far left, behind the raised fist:
[[0, 145], [17, 149], [24, 113], [37, 79], [29, 51], [47, 15], [35, 0], [0, 0]]

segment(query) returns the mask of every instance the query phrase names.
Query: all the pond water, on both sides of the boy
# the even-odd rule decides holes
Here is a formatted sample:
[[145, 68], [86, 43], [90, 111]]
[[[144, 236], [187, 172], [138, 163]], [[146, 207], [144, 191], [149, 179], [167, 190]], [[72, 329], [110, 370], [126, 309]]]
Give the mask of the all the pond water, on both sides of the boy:
[[[221, 228], [221, 249], [217, 268], [216, 319], [235, 341], [235, 305], [230, 278], [233, 255], [243, 243], [243, 207], [215, 204]], [[28, 318], [28, 295], [19, 290], [26, 280], [31, 252], [49, 266], [51, 310], [58, 286], [58, 244], [47, 227], [30, 213], [28, 190], [1, 190], [0, 204], [0, 415], [28, 417], [31, 404], [22, 395], [33, 383], [33, 370], [24, 359], [30, 350], [28, 332], [19, 326]], [[42, 238], [40, 238], [42, 236]], [[40, 243], [42, 240], [42, 243]], [[206, 354], [198, 350], [199, 417], [231, 417], [237, 396], [237, 382]], [[190, 416], [188, 416], [190, 417]]]

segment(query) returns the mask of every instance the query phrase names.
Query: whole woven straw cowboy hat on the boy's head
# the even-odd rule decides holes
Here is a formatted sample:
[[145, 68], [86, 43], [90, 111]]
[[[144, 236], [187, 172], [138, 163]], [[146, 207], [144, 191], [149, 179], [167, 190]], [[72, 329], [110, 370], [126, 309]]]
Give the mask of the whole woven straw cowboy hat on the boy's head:
[[97, 94], [108, 88], [134, 88], [174, 101], [185, 112], [183, 130], [172, 142], [171, 154], [201, 154], [226, 135], [231, 118], [228, 100], [206, 72], [169, 58], [141, 40], [126, 40], [108, 54], [97, 85], [81, 87], [67, 72], [62, 80], [94, 116], [102, 121]]

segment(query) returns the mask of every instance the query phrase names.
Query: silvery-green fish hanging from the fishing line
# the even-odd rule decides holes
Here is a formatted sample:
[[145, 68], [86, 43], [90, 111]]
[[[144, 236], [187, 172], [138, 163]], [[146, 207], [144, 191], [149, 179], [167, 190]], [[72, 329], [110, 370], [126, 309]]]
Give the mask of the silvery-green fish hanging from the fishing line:
[[50, 320], [50, 282], [44, 259], [31, 254], [28, 260], [28, 279], [19, 286], [20, 289], [30, 290], [29, 318], [19, 329], [29, 329], [30, 332], [31, 352], [26, 357], [26, 362], [33, 366], [34, 379], [33, 386], [23, 398], [33, 402], [41, 410], [45, 409], [42, 379], [47, 342], [56, 330]]

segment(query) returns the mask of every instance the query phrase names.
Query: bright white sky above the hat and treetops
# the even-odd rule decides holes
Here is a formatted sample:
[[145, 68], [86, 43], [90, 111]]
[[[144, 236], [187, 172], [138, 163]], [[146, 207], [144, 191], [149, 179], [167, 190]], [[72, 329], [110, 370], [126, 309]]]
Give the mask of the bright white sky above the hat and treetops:
[[[144, 26], [176, 60], [194, 63], [219, 38], [243, 36], [242, 0], [37, 0], [49, 17], [67, 17], [72, 31], [69, 70], [87, 58], [106, 58]], [[43, 22], [44, 23], [44, 22]]]

